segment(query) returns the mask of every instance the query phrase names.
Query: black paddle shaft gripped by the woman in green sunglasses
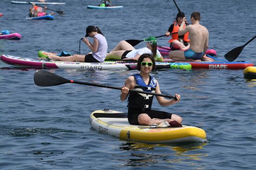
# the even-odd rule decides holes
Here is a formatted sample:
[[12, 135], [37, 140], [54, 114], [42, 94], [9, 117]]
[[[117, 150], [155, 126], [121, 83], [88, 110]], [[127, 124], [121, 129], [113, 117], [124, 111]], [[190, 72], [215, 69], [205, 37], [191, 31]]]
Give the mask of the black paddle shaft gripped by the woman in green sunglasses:
[[[88, 85], [88, 86], [96, 86], [96, 87], [101, 87], [101, 88], [111, 88], [111, 89], [116, 89], [116, 90], [121, 90], [122, 89], [122, 88], [115, 87], [115, 86], [108, 86], [108, 85], [95, 84], [95, 83], [89, 83], [89, 82], [79, 82], [79, 81], [74, 81], [74, 80], [70, 80], [70, 83], [83, 84], [83, 85]], [[156, 95], [156, 96], [161, 96], [161, 97], [177, 100], [177, 98], [175, 96], [172, 96], [172, 95], [144, 92], [144, 91], [135, 90], [135, 89], [129, 89], [129, 92], [136, 92], [136, 93], [142, 93], [142, 94], [150, 94], [150, 95]]]

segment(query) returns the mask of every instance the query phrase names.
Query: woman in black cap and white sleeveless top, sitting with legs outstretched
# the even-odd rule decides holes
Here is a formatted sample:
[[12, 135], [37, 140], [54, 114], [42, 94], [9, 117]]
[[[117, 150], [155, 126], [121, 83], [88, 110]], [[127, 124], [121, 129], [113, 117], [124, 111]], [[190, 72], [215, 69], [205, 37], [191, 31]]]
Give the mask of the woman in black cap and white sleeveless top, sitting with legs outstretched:
[[85, 63], [102, 63], [105, 60], [108, 51], [108, 43], [99, 27], [90, 25], [86, 28], [85, 37], [94, 38], [93, 43], [90, 43], [88, 38], [82, 38], [82, 41], [88, 45], [93, 51], [87, 55], [74, 55], [67, 57], [59, 57], [48, 53], [47, 56], [54, 61], [66, 61], [66, 62], [85, 62]]

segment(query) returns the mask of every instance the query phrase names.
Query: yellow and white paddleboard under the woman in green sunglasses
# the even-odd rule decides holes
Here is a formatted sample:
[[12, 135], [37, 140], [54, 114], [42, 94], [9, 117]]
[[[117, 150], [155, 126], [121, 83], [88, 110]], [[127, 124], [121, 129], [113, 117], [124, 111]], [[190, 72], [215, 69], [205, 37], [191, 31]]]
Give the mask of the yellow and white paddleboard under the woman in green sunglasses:
[[96, 110], [90, 115], [91, 126], [105, 134], [121, 139], [146, 143], [187, 143], [206, 141], [206, 132], [198, 127], [159, 127], [130, 125], [127, 113], [114, 110]]

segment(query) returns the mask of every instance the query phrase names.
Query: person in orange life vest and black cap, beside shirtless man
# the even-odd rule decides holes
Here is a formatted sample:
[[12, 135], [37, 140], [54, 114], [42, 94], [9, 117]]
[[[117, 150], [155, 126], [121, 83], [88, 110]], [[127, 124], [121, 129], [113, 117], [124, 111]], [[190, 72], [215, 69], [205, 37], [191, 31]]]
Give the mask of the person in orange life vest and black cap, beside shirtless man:
[[[187, 32], [184, 35], [178, 35], [177, 33], [175, 34], [175, 32], [179, 31], [180, 25], [182, 24], [182, 16], [185, 16], [184, 13], [177, 13], [176, 16], [176, 20], [174, 21], [174, 23], [169, 27], [168, 31], [165, 33], [165, 35], [167, 37], [170, 36], [171, 33], [172, 34], [172, 38], [168, 41], [168, 43], [170, 43], [170, 49], [171, 50], [188, 50], [189, 49], [189, 32]], [[186, 27], [186, 25], [184, 25], [184, 28]]]

